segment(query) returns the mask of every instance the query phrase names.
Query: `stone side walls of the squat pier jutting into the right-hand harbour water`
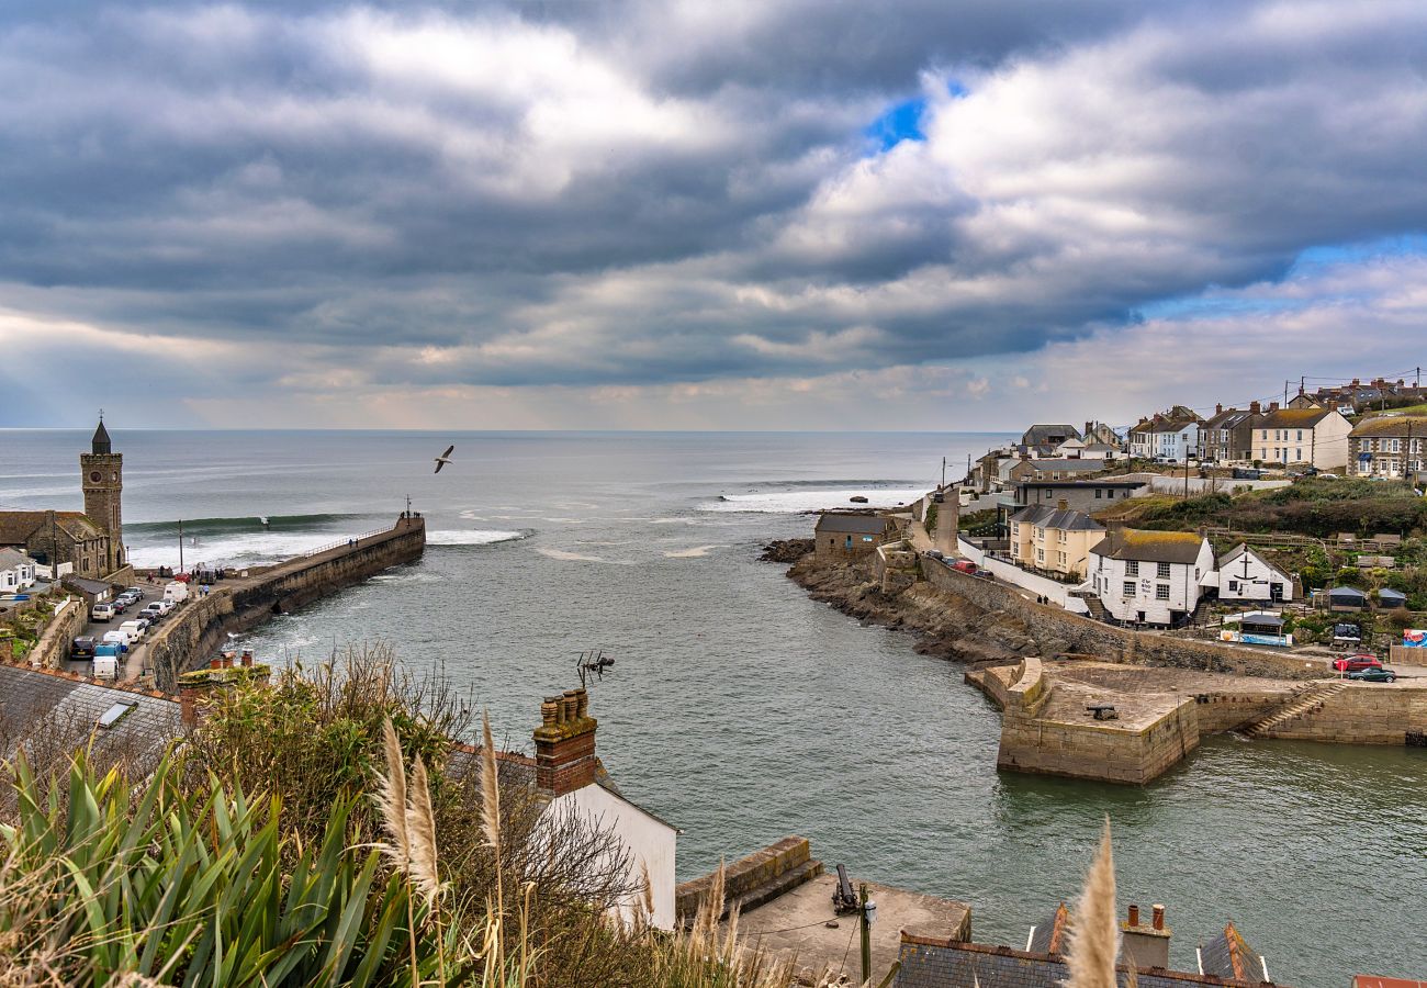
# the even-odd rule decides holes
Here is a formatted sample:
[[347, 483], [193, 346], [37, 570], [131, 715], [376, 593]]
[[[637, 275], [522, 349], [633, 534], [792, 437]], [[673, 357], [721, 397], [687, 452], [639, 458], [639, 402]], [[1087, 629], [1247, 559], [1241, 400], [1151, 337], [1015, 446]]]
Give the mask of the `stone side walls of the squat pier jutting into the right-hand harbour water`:
[[1199, 747], [1199, 715], [1186, 700], [1130, 731], [1102, 721], [1070, 724], [1006, 710], [996, 768], [1143, 785]]

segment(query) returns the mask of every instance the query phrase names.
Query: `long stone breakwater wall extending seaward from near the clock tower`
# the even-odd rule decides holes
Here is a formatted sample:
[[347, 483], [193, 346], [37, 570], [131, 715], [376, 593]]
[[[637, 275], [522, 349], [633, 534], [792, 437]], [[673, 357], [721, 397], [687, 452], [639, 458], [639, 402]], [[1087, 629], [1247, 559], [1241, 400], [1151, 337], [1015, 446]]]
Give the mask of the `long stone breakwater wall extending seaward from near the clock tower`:
[[421, 558], [424, 518], [401, 518], [391, 530], [313, 557], [300, 557], [261, 574], [225, 581], [190, 603], [150, 640], [148, 664], [160, 690], [173, 692], [177, 677], [203, 665], [227, 640], [342, 587]]

